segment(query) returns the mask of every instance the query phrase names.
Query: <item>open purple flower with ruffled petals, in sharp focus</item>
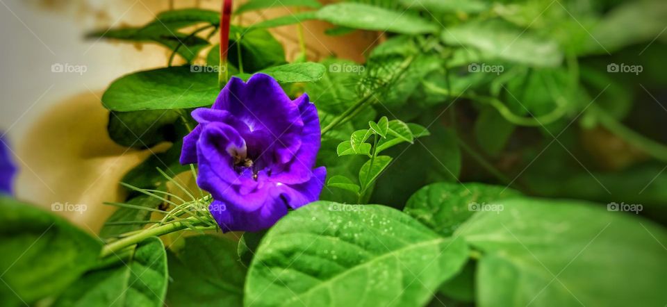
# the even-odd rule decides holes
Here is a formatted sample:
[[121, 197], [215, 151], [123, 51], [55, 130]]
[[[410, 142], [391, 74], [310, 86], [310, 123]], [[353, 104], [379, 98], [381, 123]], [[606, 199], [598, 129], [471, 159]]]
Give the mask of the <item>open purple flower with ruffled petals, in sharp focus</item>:
[[266, 229], [320, 196], [327, 171], [313, 169], [320, 119], [307, 94], [292, 101], [270, 76], [233, 77], [192, 117], [199, 125], [183, 138], [181, 164], [197, 163], [223, 231]]

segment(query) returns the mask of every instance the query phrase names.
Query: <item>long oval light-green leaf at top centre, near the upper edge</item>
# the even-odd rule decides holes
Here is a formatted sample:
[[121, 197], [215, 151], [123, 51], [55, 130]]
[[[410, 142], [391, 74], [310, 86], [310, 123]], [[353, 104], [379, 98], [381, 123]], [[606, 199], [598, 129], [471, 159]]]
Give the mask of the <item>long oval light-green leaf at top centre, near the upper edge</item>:
[[387, 31], [404, 34], [424, 34], [438, 31], [432, 24], [418, 15], [387, 10], [363, 3], [336, 3], [320, 8], [318, 19], [336, 26], [347, 26], [363, 30]]

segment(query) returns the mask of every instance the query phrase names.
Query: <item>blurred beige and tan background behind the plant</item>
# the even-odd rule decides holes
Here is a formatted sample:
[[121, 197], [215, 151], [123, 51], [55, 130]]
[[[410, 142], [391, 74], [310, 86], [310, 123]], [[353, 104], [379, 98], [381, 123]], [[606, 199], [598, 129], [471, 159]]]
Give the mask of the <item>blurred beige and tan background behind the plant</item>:
[[[235, 1], [235, 6], [241, 2]], [[327, 1], [323, 1], [327, 2]], [[7, 133], [19, 167], [16, 197], [50, 209], [53, 204], [83, 204], [85, 212], [57, 212], [83, 229], [97, 232], [114, 208], [104, 201], [123, 198], [118, 181], [129, 169], [165, 146], [138, 151], [114, 144], [106, 133], [108, 111], [99, 97], [115, 78], [140, 69], [163, 67], [169, 52], [154, 44], [83, 40], [88, 31], [140, 26], [163, 10], [199, 6], [219, 10], [206, 0], [0, 0], [0, 131]], [[289, 14], [286, 8], [247, 13], [233, 23], [253, 24]], [[331, 27], [306, 22], [308, 60], [338, 56], [363, 62], [377, 34], [357, 31], [324, 35]], [[296, 27], [272, 30], [298, 52]], [[202, 53], [208, 51], [205, 49]], [[51, 65], [85, 65], [85, 73], [54, 73]]]

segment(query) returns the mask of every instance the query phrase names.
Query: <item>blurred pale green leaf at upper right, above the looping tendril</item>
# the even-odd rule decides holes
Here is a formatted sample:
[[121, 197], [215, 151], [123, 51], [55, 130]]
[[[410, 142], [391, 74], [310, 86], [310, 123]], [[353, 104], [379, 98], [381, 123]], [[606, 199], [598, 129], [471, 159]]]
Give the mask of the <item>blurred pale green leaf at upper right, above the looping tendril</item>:
[[482, 59], [503, 59], [536, 66], [557, 66], [563, 60], [559, 45], [500, 20], [468, 22], [443, 31], [447, 44], [475, 47]]

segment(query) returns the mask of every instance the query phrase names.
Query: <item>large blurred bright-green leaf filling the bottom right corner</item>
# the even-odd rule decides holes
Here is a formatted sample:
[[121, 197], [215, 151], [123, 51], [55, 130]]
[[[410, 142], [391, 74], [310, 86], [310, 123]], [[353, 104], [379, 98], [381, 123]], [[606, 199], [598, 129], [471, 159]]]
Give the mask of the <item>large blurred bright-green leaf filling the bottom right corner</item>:
[[[478, 306], [661, 306], [667, 231], [581, 201], [509, 199], [461, 235], [481, 251]], [[630, 303], [632, 302], [632, 303]]]

